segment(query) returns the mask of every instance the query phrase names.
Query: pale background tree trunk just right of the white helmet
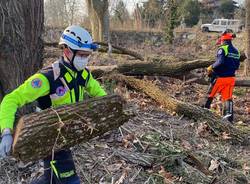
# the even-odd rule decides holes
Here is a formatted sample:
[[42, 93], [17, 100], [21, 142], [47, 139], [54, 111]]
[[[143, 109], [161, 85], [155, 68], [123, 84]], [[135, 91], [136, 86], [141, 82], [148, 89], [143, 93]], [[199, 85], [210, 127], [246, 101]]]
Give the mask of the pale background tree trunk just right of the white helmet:
[[86, 0], [94, 41], [109, 42], [108, 0]]

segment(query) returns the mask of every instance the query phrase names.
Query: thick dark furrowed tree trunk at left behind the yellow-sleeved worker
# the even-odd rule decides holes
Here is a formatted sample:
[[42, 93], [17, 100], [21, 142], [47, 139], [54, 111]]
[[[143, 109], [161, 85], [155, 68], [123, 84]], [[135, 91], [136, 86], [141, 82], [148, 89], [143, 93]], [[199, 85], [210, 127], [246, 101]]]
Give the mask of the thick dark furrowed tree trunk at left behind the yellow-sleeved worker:
[[0, 1], [1, 96], [42, 66], [43, 0]]

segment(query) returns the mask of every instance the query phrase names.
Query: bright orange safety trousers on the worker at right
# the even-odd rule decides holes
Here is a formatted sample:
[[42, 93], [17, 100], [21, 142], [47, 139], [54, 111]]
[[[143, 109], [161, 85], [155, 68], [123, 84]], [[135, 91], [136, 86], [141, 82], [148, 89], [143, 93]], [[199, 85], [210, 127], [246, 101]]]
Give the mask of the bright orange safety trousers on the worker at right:
[[219, 77], [216, 79], [209, 97], [214, 98], [217, 93], [220, 93], [223, 102], [230, 100], [232, 99], [234, 85], [235, 77]]

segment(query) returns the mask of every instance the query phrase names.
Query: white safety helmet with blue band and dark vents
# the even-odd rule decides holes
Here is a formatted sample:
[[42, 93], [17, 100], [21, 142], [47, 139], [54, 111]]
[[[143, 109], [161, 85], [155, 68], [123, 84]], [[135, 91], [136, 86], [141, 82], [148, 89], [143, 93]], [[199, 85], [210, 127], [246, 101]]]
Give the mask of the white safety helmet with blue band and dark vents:
[[61, 37], [59, 45], [67, 45], [73, 50], [83, 50], [92, 52], [97, 49], [97, 45], [93, 44], [93, 40], [89, 32], [76, 25], [67, 27]]

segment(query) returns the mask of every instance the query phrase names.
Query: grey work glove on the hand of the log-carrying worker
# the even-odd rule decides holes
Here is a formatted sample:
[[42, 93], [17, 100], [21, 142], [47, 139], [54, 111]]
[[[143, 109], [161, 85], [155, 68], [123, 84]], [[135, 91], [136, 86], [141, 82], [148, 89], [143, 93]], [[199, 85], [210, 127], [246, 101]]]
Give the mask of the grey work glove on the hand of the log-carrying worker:
[[10, 129], [7, 129], [7, 131], [4, 130], [2, 133], [2, 140], [0, 143], [0, 157], [5, 158], [9, 154], [12, 143], [13, 143], [13, 137]]

